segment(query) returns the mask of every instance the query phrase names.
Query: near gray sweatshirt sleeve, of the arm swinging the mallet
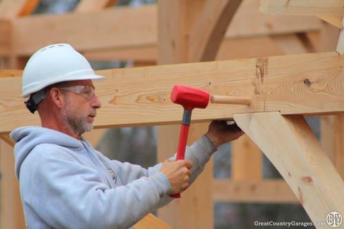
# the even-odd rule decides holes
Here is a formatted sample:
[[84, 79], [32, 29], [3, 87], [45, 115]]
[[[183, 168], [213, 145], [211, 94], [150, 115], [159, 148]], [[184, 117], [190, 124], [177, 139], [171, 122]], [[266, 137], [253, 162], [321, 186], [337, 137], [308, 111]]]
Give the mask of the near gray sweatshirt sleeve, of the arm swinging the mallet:
[[43, 155], [29, 205], [54, 228], [129, 228], [169, 192], [162, 172], [109, 188], [94, 168], [79, 164], [72, 155]]

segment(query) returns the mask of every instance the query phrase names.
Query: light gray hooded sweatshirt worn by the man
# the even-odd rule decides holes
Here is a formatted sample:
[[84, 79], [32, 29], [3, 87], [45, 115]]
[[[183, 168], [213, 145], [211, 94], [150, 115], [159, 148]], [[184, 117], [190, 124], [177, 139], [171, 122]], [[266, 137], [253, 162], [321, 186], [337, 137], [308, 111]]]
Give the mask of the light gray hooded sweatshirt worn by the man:
[[[86, 140], [43, 127], [10, 135], [27, 228], [130, 228], [172, 200], [162, 164], [109, 160]], [[206, 136], [186, 149], [191, 182], [215, 150]]]

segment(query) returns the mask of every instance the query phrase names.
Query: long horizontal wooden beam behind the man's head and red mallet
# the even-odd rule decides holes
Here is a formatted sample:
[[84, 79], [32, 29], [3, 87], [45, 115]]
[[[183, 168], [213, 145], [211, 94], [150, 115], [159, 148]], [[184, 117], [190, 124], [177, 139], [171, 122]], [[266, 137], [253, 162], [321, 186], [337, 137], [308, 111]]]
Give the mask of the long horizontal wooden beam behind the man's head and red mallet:
[[[193, 122], [263, 111], [339, 113], [344, 111], [343, 65], [344, 56], [328, 52], [102, 70], [97, 73], [107, 80], [95, 83], [103, 107], [94, 124], [105, 128], [179, 123], [182, 107], [169, 99], [175, 84], [252, 97], [250, 106], [210, 104], [195, 109]], [[0, 78], [0, 91], [0, 132], [39, 124], [38, 115], [30, 114], [20, 97], [21, 78]]]

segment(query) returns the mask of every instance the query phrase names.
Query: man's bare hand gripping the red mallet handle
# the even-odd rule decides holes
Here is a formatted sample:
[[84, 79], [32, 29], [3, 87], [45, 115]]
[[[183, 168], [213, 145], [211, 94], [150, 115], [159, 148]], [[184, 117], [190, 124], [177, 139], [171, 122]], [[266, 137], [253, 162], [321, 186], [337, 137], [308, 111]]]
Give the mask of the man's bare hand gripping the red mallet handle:
[[162, 163], [162, 173], [166, 175], [171, 183], [172, 193], [182, 193], [187, 187], [189, 187], [189, 179], [191, 176], [190, 168], [193, 163], [189, 160], [169, 161], [165, 160]]

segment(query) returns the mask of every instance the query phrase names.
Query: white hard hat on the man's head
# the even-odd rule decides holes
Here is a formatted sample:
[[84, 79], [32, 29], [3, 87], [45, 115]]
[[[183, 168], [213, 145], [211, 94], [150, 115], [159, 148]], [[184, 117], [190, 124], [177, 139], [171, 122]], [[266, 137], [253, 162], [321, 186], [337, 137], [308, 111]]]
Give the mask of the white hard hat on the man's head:
[[35, 52], [23, 72], [22, 97], [63, 81], [104, 80], [94, 74], [86, 58], [69, 44], [54, 44]]

